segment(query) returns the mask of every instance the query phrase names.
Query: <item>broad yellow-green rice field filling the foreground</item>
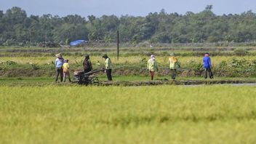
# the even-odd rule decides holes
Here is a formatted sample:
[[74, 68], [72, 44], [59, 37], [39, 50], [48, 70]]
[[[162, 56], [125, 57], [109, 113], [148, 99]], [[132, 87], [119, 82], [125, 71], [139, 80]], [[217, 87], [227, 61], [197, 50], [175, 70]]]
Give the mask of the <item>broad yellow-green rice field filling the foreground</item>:
[[255, 86], [0, 89], [0, 143], [256, 143]]

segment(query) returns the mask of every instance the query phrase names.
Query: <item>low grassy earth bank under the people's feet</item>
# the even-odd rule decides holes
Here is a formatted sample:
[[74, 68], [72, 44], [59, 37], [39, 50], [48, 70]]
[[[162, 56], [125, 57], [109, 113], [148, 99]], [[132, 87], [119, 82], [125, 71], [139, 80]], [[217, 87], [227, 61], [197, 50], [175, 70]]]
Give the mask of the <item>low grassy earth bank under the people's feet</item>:
[[[76, 83], [55, 83], [53, 79], [0, 79], [0, 86], [37, 86], [44, 87], [47, 85], [54, 86], [77, 86]], [[256, 86], [256, 79], [252, 80], [220, 80], [220, 79], [200, 79], [200, 80], [168, 80], [159, 79], [156, 81], [100, 81], [100, 84], [92, 84], [95, 86], [120, 86], [120, 87], [137, 87], [137, 86], [156, 86], [156, 85], [180, 85], [180, 86], [205, 86], [213, 84], [230, 84], [233, 86]], [[83, 85], [81, 85], [83, 87]]]

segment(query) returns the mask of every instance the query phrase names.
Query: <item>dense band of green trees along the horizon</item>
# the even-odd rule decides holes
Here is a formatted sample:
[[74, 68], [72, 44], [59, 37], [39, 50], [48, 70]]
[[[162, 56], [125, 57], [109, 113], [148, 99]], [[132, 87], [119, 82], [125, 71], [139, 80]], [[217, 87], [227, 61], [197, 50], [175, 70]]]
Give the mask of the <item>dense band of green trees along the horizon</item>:
[[68, 44], [76, 39], [150, 43], [247, 42], [256, 40], [256, 15], [251, 10], [215, 15], [212, 5], [198, 13], [184, 15], [161, 12], [145, 17], [103, 15], [30, 15], [20, 7], [0, 10], [0, 45], [39, 44], [44, 41]]

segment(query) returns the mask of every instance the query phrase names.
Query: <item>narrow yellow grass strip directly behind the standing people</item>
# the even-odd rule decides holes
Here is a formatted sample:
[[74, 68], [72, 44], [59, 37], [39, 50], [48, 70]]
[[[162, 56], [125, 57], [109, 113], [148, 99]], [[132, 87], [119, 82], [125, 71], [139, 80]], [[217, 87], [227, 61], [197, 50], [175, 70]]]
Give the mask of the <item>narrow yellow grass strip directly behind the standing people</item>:
[[[84, 57], [75, 57], [75, 56], [68, 56], [65, 57], [69, 59], [70, 64], [76, 64], [76, 63], [82, 63], [84, 60]], [[111, 57], [113, 64], [137, 64], [140, 63], [143, 59], [148, 60], [150, 57], [147, 56], [129, 56], [129, 57], [119, 57], [119, 60], [117, 60], [116, 57]], [[177, 57], [180, 63], [188, 63], [189, 61], [193, 60], [196, 63], [202, 63], [203, 57]], [[219, 64], [221, 61], [228, 61], [236, 58], [237, 60], [246, 59], [246, 60], [256, 60], [256, 56], [216, 56], [211, 57], [213, 65]], [[101, 56], [91, 56], [90, 57], [93, 64], [95, 63], [104, 63], [104, 59]], [[19, 64], [26, 64], [26, 63], [37, 63], [37, 64], [51, 64], [52, 62], [55, 62], [55, 57], [0, 57], [0, 62], [6, 62], [6, 61], [14, 61]], [[169, 64], [169, 57], [164, 56], [156, 56], [156, 60], [160, 65], [168, 65]]]

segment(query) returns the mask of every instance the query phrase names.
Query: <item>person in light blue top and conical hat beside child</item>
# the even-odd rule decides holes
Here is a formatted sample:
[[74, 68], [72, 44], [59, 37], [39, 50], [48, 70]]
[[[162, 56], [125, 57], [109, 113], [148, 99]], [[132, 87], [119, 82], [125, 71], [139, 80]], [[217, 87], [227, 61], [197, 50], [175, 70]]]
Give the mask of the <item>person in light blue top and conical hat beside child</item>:
[[55, 81], [57, 82], [59, 75], [60, 75], [60, 81], [63, 81], [63, 63], [64, 63], [63, 55], [61, 55], [61, 53], [58, 53], [55, 56], [57, 57], [55, 60], [55, 66], [56, 66]]

